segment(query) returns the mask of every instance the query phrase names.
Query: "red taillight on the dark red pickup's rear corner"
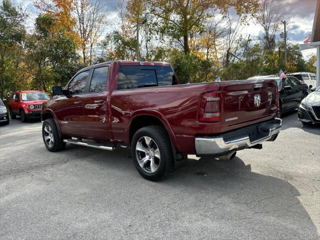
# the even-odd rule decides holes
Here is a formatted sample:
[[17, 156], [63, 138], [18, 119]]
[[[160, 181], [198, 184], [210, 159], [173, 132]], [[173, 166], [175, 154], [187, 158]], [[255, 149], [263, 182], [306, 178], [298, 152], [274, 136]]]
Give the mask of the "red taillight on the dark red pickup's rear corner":
[[199, 121], [219, 121], [221, 113], [221, 92], [211, 91], [202, 96]]

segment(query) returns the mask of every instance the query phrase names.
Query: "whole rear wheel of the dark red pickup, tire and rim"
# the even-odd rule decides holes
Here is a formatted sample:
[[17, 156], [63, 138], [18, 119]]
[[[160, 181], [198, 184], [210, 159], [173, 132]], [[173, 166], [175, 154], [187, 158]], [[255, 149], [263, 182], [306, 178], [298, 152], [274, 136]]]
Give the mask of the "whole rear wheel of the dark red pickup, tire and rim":
[[158, 181], [174, 169], [170, 139], [162, 126], [144, 126], [132, 138], [133, 164], [142, 177]]

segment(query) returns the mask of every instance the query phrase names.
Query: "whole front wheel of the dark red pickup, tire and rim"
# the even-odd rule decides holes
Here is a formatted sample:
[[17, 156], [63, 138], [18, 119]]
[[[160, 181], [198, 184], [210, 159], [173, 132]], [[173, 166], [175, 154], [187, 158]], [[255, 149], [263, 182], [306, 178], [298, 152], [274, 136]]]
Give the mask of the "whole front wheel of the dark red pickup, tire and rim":
[[42, 138], [46, 149], [49, 151], [60, 151], [65, 147], [65, 142], [60, 138], [53, 118], [48, 118], [43, 121]]

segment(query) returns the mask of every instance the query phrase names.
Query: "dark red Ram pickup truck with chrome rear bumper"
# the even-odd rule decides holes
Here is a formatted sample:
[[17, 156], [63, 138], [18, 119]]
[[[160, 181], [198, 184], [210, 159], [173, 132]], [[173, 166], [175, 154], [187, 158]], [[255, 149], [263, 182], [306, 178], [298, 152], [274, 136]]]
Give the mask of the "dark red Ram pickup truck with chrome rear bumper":
[[149, 180], [183, 165], [187, 154], [230, 159], [236, 150], [261, 148], [281, 128], [275, 80], [178, 84], [163, 62], [103, 62], [52, 93], [41, 111], [48, 150], [129, 146]]

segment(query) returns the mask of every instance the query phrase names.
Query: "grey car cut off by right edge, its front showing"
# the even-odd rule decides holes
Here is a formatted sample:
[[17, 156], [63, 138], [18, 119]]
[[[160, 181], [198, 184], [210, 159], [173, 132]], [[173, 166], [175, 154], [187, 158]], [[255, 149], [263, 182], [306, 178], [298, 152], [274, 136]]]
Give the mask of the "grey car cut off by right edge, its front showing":
[[298, 109], [298, 119], [303, 124], [320, 123], [320, 86], [315, 90], [311, 88], [311, 93], [305, 97]]

